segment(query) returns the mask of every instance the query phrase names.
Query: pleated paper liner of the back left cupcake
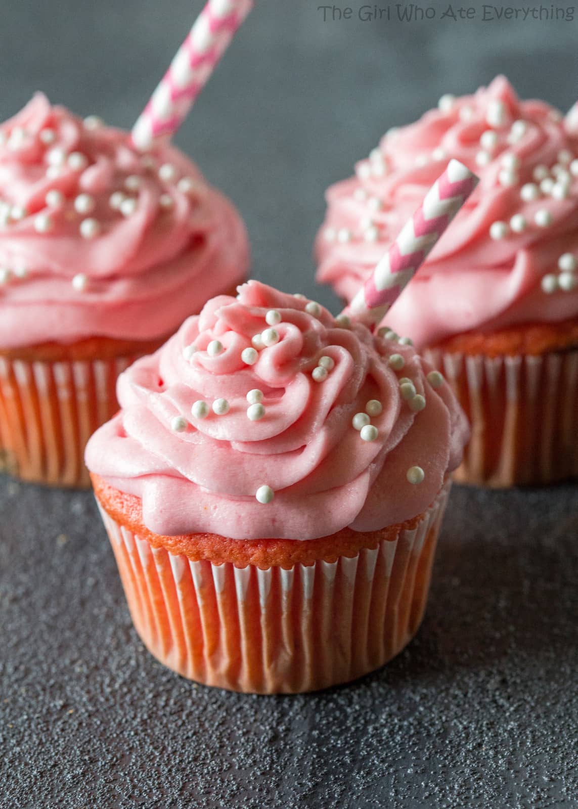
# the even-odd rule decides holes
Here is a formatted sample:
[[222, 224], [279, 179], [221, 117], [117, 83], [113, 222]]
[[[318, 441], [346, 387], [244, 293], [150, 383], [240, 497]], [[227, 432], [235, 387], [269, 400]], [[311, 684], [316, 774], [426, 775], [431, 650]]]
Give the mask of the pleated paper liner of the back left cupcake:
[[117, 412], [117, 376], [137, 356], [59, 362], [0, 357], [0, 471], [55, 486], [90, 485], [84, 447]]

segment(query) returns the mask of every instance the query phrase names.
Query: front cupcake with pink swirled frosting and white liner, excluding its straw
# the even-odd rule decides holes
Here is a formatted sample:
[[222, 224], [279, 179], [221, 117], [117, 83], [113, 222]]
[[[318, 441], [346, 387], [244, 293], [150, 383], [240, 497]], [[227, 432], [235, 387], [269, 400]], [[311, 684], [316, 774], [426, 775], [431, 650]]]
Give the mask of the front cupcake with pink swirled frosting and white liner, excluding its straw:
[[204, 684], [295, 693], [406, 646], [468, 434], [410, 345], [253, 281], [117, 392], [87, 466], [157, 659]]

